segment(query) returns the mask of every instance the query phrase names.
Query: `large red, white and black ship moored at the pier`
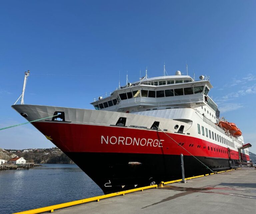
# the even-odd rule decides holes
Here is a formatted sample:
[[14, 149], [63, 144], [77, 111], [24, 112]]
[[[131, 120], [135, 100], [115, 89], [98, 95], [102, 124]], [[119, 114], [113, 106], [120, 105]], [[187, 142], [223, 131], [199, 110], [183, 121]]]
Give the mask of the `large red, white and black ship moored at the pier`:
[[32, 125], [111, 193], [180, 179], [181, 154], [186, 177], [250, 160], [251, 145], [234, 123], [220, 119], [212, 88], [204, 76], [176, 71], [127, 82], [94, 98], [93, 110], [25, 105], [23, 97], [12, 108], [38, 120]]

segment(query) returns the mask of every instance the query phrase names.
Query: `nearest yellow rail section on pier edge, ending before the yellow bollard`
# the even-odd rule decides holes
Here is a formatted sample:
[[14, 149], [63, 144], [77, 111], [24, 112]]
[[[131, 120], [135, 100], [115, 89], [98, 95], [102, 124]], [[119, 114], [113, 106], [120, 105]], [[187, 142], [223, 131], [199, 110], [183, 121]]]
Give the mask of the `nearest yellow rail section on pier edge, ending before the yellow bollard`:
[[144, 187], [140, 187], [140, 188], [136, 188], [136, 189], [129, 189], [129, 190], [121, 191], [121, 192], [115, 192], [115, 193], [110, 193], [110, 194], [106, 194], [106, 195], [85, 198], [82, 200], [71, 201], [71, 202], [62, 203], [62, 204], [56, 204], [56, 205], [52, 205], [52, 206], [48, 206], [48, 207], [42, 207], [42, 208], [38, 208], [38, 209], [27, 210], [27, 211], [13, 213], [13, 214], [34, 214], [34, 213], [42, 213], [42, 212], [47, 212], [47, 211], [53, 212], [56, 209], [61, 209], [61, 208], [70, 207], [70, 206], [74, 206], [74, 205], [78, 205], [78, 204], [92, 202], [92, 201], [99, 201], [104, 198], [110, 198], [110, 197], [114, 197], [114, 196], [118, 196], [118, 195], [125, 195], [127, 193], [143, 191], [145, 189], [152, 189], [152, 188], [157, 188], [157, 185], [144, 186]]

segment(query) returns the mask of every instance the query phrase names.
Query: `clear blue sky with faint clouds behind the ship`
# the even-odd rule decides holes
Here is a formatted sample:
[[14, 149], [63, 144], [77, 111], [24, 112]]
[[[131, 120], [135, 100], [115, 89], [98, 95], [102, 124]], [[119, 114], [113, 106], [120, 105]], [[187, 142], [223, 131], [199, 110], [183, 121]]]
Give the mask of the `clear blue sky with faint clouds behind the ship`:
[[[210, 76], [221, 115], [256, 153], [255, 1], [2, 1], [0, 127], [25, 122], [11, 105], [92, 108], [93, 97], [139, 78]], [[52, 147], [32, 125], [0, 131], [0, 148]]]

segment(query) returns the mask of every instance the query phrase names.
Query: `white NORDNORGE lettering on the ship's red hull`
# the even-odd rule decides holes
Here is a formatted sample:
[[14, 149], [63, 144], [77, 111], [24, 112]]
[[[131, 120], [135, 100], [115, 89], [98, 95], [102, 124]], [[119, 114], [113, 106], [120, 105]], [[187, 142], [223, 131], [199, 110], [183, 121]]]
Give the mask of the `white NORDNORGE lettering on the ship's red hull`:
[[126, 145], [126, 146], [147, 146], [147, 147], [163, 147], [164, 140], [146, 139], [146, 138], [131, 138], [131, 137], [115, 137], [101, 136], [101, 144]]

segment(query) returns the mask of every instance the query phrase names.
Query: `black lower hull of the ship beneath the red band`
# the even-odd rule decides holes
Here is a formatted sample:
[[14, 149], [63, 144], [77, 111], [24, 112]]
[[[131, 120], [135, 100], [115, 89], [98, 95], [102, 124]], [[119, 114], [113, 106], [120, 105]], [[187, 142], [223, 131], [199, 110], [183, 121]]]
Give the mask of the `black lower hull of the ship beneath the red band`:
[[[124, 153], [69, 153], [105, 194], [180, 179], [179, 155]], [[196, 157], [213, 170], [230, 169], [228, 159]], [[192, 156], [184, 156], [185, 177], [211, 173]]]

